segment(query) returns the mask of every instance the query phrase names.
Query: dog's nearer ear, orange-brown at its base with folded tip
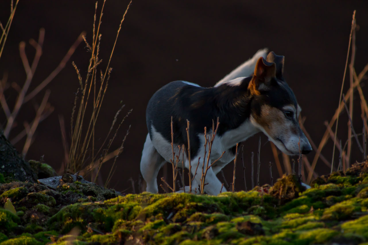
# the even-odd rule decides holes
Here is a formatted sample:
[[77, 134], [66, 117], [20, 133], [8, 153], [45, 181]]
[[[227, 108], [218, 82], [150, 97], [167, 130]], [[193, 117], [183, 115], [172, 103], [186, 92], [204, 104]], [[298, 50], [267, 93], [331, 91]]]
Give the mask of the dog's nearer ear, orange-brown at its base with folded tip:
[[270, 86], [272, 78], [276, 76], [275, 63], [267, 62], [263, 57], [260, 57], [254, 68], [254, 75], [249, 82], [248, 89], [254, 95], [260, 95], [260, 90], [267, 90]]

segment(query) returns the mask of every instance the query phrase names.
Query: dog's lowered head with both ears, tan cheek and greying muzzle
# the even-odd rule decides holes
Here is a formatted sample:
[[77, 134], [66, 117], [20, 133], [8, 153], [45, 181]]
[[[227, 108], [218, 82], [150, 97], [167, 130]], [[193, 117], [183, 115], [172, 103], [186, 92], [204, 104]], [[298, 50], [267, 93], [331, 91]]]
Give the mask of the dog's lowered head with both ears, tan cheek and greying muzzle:
[[302, 132], [298, 117], [301, 111], [293, 91], [283, 78], [284, 56], [270, 52], [267, 60], [259, 58], [248, 91], [251, 122], [287, 155], [307, 154], [312, 148]]

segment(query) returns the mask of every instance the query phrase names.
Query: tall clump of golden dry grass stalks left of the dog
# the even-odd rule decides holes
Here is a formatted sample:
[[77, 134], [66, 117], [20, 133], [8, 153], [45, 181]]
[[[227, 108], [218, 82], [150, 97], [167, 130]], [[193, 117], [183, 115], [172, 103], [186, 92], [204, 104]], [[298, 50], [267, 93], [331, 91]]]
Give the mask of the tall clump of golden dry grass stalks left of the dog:
[[[89, 153], [89, 154], [91, 154], [91, 157], [88, 157], [88, 159], [91, 159], [91, 160], [89, 160], [89, 161], [91, 161], [91, 164], [89, 164], [85, 168], [85, 174], [86, 175], [89, 174], [89, 175], [91, 175], [91, 178], [92, 178], [91, 171], [92, 171], [93, 167], [95, 167], [95, 162], [96, 161], [98, 162], [98, 168], [97, 168], [97, 171], [95, 171], [94, 180], [91, 179], [91, 181], [95, 181], [98, 178], [101, 166], [105, 162], [104, 159], [107, 156], [107, 154], [109, 153], [109, 148], [110, 148], [111, 143], [114, 140], [114, 138], [116, 136], [116, 133], [117, 133], [117, 131], [116, 131], [115, 135], [112, 137], [112, 139], [110, 139], [110, 141], [107, 145], [107, 148], [102, 150], [103, 145], [105, 144], [105, 142], [107, 140], [107, 137], [109, 136], [110, 132], [112, 131], [112, 127], [114, 126], [114, 124], [117, 120], [117, 116], [120, 113], [122, 107], [118, 110], [116, 116], [114, 117], [112, 127], [110, 128], [110, 131], [107, 134], [104, 143], [101, 145], [99, 150], [95, 151], [95, 126], [96, 126], [96, 121], [98, 119], [99, 112], [100, 112], [100, 109], [101, 109], [101, 106], [102, 106], [103, 99], [104, 99], [105, 94], [106, 94], [106, 89], [107, 89], [109, 79], [110, 79], [110, 74], [111, 74], [111, 71], [112, 71], [112, 68], [110, 67], [110, 61], [111, 61], [112, 55], [114, 53], [114, 49], [115, 49], [115, 46], [116, 46], [117, 38], [118, 38], [119, 33], [120, 33], [121, 25], [122, 25], [122, 23], [125, 19], [125, 15], [127, 14], [127, 11], [128, 11], [128, 9], [130, 7], [130, 4], [131, 4], [131, 1], [130, 1], [130, 3], [127, 6], [127, 9], [125, 10], [123, 18], [120, 21], [120, 25], [119, 25], [119, 28], [117, 30], [115, 42], [113, 44], [113, 47], [112, 47], [112, 50], [111, 50], [111, 53], [110, 53], [110, 57], [109, 57], [109, 60], [107, 62], [106, 70], [105, 70], [105, 72], [100, 71], [100, 74], [99, 74], [99, 80], [100, 81], [99, 81], [99, 85], [98, 85], [98, 82], [97, 82], [97, 80], [98, 80], [97, 67], [102, 61], [102, 60], [99, 59], [100, 41], [101, 41], [101, 36], [102, 36], [101, 33], [100, 33], [100, 26], [101, 26], [103, 10], [104, 10], [104, 7], [105, 7], [105, 2], [106, 2], [106, 0], [104, 0], [103, 4], [102, 4], [99, 20], [97, 22], [97, 27], [96, 27], [97, 2], [96, 2], [96, 5], [95, 5], [95, 14], [94, 14], [94, 17], [93, 17], [94, 21], [93, 21], [92, 45], [89, 45], [89, 43], [87, 42], [84, 35], [82, 36], [83, 40], [86, 43], [88, 51], [91, 53], [91, 58], [89, 60], [87, 74], [86, 74], [86, 78], [84, 79], [84, 81], [82, 79], [82, 76], [81, 76], [78, 68], [77, 68], [77, 65], [75, 65], [73, 63], [74, 68], [77, 71], [78, 81], [79, 81], [79, 85], [80, 85], [80, 88], [79, 88], [80, 92], [79, 93], [81, 93], [81, 95], [80, 95], [80, 99], [79, 99], [78, 108], [75, 105], [73, 107], [73, 110], [72, 110], [72, 116], [71, 116], [71, 135], [72, 135], [72, 137], [71, 137], [70, 150], [69, 150], [69, 154], [68, 154], [69, 161], [68, 161], [68, 164], [67, 164], [67, 169], [70, 169], [72, 171], [77, 171], [77, 170], [83, 169], [84, 166], [85, 166], [85, 163], [86, 163], [87, 153]], [[77, 93], [77, 96], [78, 96], [78, 93]], [[92, 113], [91, 113], [90, 116], [87, 116], [86, 111], [88, 109], [90, 97], [92, 97], [92, 105], [91, 105]], [[77, 102], [77, 98], [75, 99], [75, 102]], [[75, 115], [75, 113], [76, 113], [76, 115]], [[130, 113], [130, 111], [127, 113], [127, 115], [129, 113]], [[74, 117], [74, 115], [76, 117]], [[87, 118], [87, 117], [89, 117], [89, 118]], [[124, 117], [124, 119], [125, 119], [125, 117]], [[124, 119], [122, 120], [122, 122], [124, 121]], [[84, 126], [86, 124], [85, 120], [89, 120], [88, 121], [88, 127], [87, 127], [86, 130], [83, 130]], [[120, 127], [121, 123], [119, 124], [118, 128]], [[127, 135], [125, 135], [125, 136], [127, 136]], [[102, 151], [102, 157], [98, 157], [100, 155], [101, 151]], [[115, 157], [115, 160], [116, 160], [116, 157]], [[110, 176], [110, 174], [109, 174], [109, 176]]]

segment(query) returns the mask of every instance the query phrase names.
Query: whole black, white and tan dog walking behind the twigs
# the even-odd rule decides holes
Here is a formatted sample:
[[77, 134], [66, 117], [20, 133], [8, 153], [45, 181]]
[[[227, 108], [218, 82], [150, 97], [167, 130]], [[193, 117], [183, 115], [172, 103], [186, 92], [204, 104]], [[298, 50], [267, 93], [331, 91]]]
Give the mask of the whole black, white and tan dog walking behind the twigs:
[[[185, 81], [174, 81], [160, 88], [149, 100], [146, 110], [147, 135], [141, 159], [141, 173], [147, 183], [146, 191], [158, 192], [157, 174], [166, 161], [173, 157], [171, 149], [171, 117], [173, 118], [174, 151], [178, 145], [188, 146], [187, 120], [190, 121], [191, 169], [203, 159], [204, 128], [212, 129], [219, 118], [219, 128], [212, 145], [210, 161], [223, 157], [207, 172], [205, 192], [220, 193], [222, 184], [216, 174], [235, 158], [235, 146], [257, 132], [288, 155], [311, 152], [312, 148], [300, 129], [301, 111], [293, 91], [283, 78], [284, 56], [261, 50], [212, 88], [203, 88]], [[256, 62], [255, 62], [256, 61]], [[250, 71], [250, 68], [253, 71]], [[241, 77], [243, 74], [253, 74]], [[234, 77], [238, 77], [232, 79]], [[232, 80], [229, 80], [232, 79]], [[211, 132], [208, 132], [210, 134]], [[300, 142], [300, 148], [298, 145]], [[300, 150], [299, 150], [300, 149]], [[184, 155], [185, 157], [185, 155]], [[181, 156], [180, 161], [181, 163]], [[200, 161], [201, 164], [203, 161]], [[187, 157], [184, 167], [189, 168]], [[200, 183], [195, 175], [193, 186]], [[226, 191], [224, 188], [222, 191]]]

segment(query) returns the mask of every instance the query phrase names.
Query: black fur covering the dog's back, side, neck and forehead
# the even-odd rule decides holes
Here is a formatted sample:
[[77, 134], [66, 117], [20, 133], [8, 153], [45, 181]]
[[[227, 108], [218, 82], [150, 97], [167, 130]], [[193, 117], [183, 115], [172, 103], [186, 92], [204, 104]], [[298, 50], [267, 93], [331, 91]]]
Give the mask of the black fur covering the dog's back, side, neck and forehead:
[[[173, 117], [174, 143], [188, 146], [187, 120], [190, 121], [191, 156], [199, 149], [198, 134], [212, 129], [212, 122], [219, 118], [217, 136], [230, 129], [238, 128], [250, 118], [250, 114], [261, 114], [262, 104], [281, 109], [286, 104], [297, 106], [294, 93], [285, 82], [271, 83], [272, 88], [260, 95], [251, 95], [247, 89], [251, 77], [244, 78], [239, 86], [227, 84], [212, 88], [188, 85], [174, 81], [160, 88], [149, 100], [146, 123], [152, 139], [151, 125], [171, 142], [171, 116]], [[229, 146], [233, 148], [233, 146]], [[231, 149], [233, 150], [233, 149]]]

